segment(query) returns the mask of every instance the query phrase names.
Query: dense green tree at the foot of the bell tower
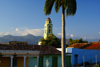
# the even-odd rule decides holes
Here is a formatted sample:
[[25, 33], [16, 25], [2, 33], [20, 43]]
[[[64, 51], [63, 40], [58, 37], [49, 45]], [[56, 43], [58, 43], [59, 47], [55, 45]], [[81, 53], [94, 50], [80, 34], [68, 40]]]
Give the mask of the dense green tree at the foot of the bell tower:
[[40, 41], [41, 45], [51, 45], [53, 47], [61, 46], [61, 40], [53, 34], [49, 35], [47, 39], [42, 38]]

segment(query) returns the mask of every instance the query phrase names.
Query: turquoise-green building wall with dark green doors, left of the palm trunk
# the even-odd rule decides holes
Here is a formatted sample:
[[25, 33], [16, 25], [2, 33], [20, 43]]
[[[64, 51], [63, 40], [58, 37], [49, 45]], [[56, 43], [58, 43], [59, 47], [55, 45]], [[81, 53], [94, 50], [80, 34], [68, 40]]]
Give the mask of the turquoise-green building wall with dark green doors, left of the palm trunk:
[[[54, 59], [55, 57], [56, 57], [56, 61], [53, 61], [53, 60], [55, 60]], [[48, 60], [48, 67], [62, 67], [61, 55], [39, 56], [39, 67], [47, 67], [46, 66], [47, 60]], [[56, 64], [56, 66], [55, 66], [55, 64]], [[37, 65], [37, 57], [29, 57], [28, 58], [28, 67], [35, 67], [35, 65]]]

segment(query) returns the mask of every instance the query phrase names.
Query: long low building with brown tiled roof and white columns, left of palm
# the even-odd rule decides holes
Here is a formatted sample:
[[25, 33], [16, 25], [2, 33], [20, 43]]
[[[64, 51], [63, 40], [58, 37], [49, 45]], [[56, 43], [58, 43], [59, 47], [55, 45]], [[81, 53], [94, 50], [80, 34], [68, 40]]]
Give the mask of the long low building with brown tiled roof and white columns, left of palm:
[[0, 44], [0, 67], [58, 67], [60, 56], [52, 46]]

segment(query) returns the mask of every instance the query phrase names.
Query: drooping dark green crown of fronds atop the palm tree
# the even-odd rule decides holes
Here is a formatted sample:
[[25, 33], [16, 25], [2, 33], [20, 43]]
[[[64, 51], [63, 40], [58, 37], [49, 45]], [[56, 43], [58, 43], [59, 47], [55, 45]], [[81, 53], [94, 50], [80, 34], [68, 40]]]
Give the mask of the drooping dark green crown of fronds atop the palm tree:
[[44, 6], [45, 15], [51, 13], [53, 5], [56, 13], [58, 13], [61, 6], [64, 6], [63, 8], [66, 10], [66, 16], [74, 15], [76, 13], [76, 0], [46, 0]]

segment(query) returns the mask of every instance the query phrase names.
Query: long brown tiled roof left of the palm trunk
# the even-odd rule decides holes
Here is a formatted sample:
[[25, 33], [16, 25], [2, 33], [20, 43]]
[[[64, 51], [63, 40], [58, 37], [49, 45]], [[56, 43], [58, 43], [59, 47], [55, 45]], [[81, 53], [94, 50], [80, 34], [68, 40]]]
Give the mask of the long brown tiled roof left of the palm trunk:
[[56, 48], [47, 45], [3, 45], [0, 50], [33, 50], [40, 51], [40, 55], [61, 54]]

